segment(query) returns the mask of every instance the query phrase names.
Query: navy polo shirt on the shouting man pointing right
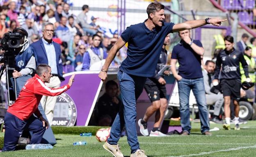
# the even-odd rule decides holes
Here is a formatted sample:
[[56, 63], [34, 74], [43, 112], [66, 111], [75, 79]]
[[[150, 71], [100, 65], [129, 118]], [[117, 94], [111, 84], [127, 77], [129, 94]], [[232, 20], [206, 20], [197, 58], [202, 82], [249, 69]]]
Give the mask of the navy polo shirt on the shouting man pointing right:
[[128, 42], [127, 57], [120, 70], [136, 76], [153, 77], [158, 63], [165, 37], [172, 33], [174, 23], [164, 22], [162, 27], [150, 31], [145, 21], [127, 27], [121, 34], [124, 42]]

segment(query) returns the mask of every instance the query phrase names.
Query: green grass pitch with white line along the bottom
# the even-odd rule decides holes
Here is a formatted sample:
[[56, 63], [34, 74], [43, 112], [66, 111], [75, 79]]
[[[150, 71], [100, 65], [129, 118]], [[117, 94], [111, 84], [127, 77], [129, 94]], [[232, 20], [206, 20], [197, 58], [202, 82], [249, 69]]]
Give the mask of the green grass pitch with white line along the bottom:
[[[212, 136], [200, 133], [200, 124], [192, 122], [192, 134], [186, 137], [138, 137], [140, 147], [148, 157], [255, 157], [256, 121], [240, 125], [241, 130], [223, 130], [220, 124], [210, 124], [210, 128], [219, 127]], [[231, 128], [234, 124], [231, 124]], [[3, 133], [0, 136], [4, 136]], [[57, 144], [51, 150], [17, 150], [1, 152], [0, 157], [112, 157], [103, 149], [103, 143], [95, 136], [55, 134]], [[87, 145], [73, 146], [73, 142], [86, 141]], [[126, 157], [130, 157], [130, 147], [126, 137], [119, 144]]]

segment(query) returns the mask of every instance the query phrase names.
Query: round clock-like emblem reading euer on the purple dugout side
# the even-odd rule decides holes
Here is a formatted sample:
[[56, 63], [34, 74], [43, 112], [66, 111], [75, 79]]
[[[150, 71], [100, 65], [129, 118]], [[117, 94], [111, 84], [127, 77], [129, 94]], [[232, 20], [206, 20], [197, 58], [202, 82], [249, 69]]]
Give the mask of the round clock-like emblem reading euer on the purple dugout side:
[[67, 93], [57, 96], [53, 114], [53, 126], [74, 126], [77, 113], [74, 101]]

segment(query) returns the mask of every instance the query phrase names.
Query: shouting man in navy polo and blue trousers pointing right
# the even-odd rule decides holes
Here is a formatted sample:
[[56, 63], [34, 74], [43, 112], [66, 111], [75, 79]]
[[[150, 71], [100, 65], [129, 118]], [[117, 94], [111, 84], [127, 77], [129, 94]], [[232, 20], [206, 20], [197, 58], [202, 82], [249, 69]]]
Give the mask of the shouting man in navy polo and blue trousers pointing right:
[[126, 127], [127, 140], [131, 147], [130, 157], [146, 157], [140, 150], [136, 132], [136, 100], [142, 93], [146, 77], [154, 75], [158, 58], [165, 37], [169, 33], [193, 29], [205, 24], [219, 26], [225, 20], [210, 19], [191, 20], [181, 24], [167, 23], [165, 6], [154, 2], [147, 7], [148, 19], [142, 23], [127, 27], [121, 34], [106, 58], [99, 77], [102, 81], [107, 78], [107, 69], [115, 55], [128, 42], [127, 57], [122, 62], [117, 77], [119, 79], [123, 105], [111, 128], [110, 138], [103, 145], [115, 157], [123, 157], [117, 144], [121, 137], [123, 126]]

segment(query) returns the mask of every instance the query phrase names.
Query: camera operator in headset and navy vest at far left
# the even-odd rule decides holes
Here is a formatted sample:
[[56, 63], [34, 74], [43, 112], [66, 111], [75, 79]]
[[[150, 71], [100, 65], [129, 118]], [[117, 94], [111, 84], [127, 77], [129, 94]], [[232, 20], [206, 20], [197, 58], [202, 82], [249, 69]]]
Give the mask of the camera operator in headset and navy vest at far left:
[[[36, 61], [34, 57], [33, 51], [30, 49], [30, 44], [28, 41], [28, 33], [23, 28], [16, 28], [12, 31], [12, 33], [18, 33], [19, 35], [19, 42], [20, 44], [17, 46], [17, 48], [11, 48], [14, 49], [15, 56], [15, 70], [12, 73], [11, 84], [14, 87], [14, 79], [16, 79], [16, 96], [18, 97], [22, 87], [27, 82], [29, 78], [32, 77], [32, 74], [34, 73], [36, 69]], [[11, 40], [11, 38], [10, 38]], [[18, 41], [14, 41], [13, 43], [16, 43]], [[8, 52], [11, 53], [11, 52]], [[15, 91], [15, 90], [14, 90]]]

